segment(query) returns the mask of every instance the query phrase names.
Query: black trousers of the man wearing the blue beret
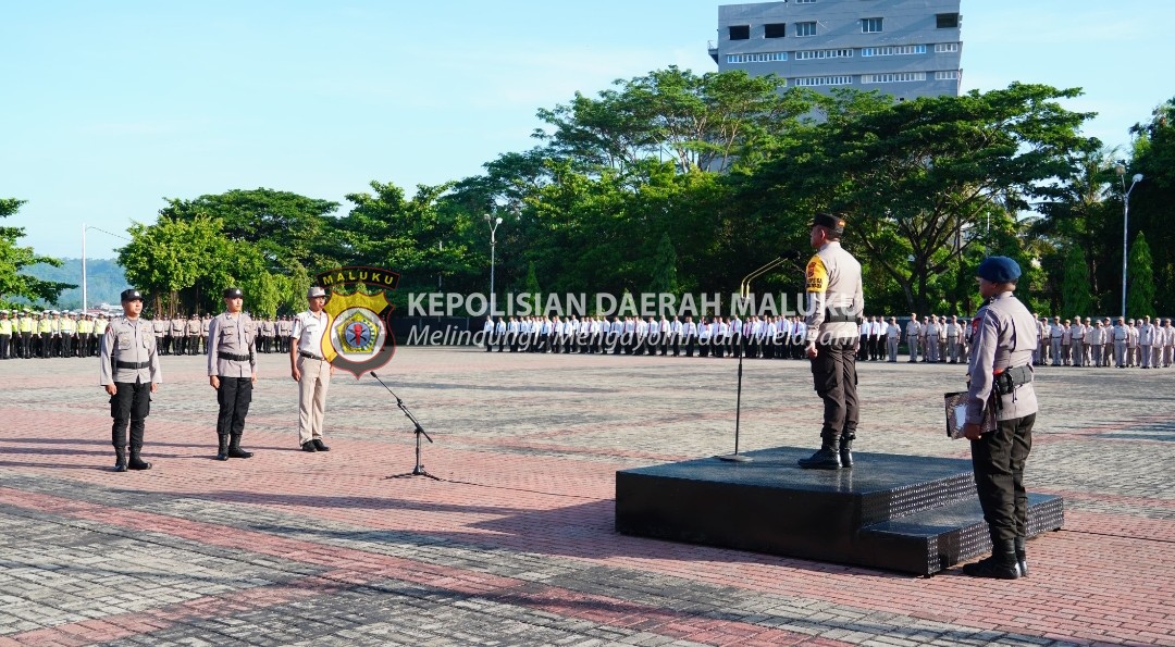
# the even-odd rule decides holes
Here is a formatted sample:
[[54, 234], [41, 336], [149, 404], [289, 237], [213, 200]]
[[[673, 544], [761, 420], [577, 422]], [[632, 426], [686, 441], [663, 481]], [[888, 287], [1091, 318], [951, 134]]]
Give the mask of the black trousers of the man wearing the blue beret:
[[975, 490], [993, 544], [1028, 534], [1028, 494], [1023, 477], [1035, 422], [1035, 413], [1000, 420], [995, 431], [971, 442]]

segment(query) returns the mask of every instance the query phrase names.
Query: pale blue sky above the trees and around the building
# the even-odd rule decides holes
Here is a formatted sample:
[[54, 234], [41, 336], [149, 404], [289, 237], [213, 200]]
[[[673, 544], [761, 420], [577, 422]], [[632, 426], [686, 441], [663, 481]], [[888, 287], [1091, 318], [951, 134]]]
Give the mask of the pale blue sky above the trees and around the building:
[[[832, 0], [826, 0], [832, 1]], [[1175, 96], [1171, 0], [964, 0], [964, 87], [1080, 86], [1108, 144]], [[716, 69], [718, 2], [0, 4], [0, 225], [81, 255], [162, 197], [268, 187], [347, 204], [533, 144], [535, 112], [678, 65]], [[87, 256], [122, 241], [87, 236]]]

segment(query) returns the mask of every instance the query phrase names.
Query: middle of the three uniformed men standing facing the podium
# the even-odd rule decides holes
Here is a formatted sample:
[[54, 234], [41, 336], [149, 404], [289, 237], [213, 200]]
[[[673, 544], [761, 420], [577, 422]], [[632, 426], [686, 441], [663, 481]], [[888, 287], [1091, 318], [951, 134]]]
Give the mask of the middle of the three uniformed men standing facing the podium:
[[253, 318], [241, 311], [244, 292], [228, 288], [223, 297], [224, 312], [208, 324], [208, 383], [220, 404], [216, 460], [253, 456], [241, 449], [241, 436], [257, 382], [257, 332]]

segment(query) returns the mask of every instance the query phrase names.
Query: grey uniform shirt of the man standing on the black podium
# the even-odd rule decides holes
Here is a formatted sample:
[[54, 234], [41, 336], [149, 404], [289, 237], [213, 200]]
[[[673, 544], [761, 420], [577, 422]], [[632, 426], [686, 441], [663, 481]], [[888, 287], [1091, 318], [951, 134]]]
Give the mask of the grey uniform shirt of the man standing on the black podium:
[[806, 341], [848, 341], [858, 337], [857, 323], [828, 322], [830, 310], [838, 315], [860, 317], [865, 311], [865, 292], [861, 289], [861, 264], [852, 254], [840, 247], [840, 241], [828, 241], [820, 245], [808, 261], [806, 290], [808, 314]]

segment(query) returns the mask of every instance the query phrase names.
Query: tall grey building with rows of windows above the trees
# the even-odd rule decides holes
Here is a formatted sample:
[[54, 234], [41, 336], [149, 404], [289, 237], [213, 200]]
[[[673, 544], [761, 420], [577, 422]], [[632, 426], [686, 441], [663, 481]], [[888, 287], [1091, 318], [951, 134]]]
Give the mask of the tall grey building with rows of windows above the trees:
[[880, 90], [899, 101], [959, 94], [960, 0], [784, 0], [718, 7], [720, 72], [787, 87]]

